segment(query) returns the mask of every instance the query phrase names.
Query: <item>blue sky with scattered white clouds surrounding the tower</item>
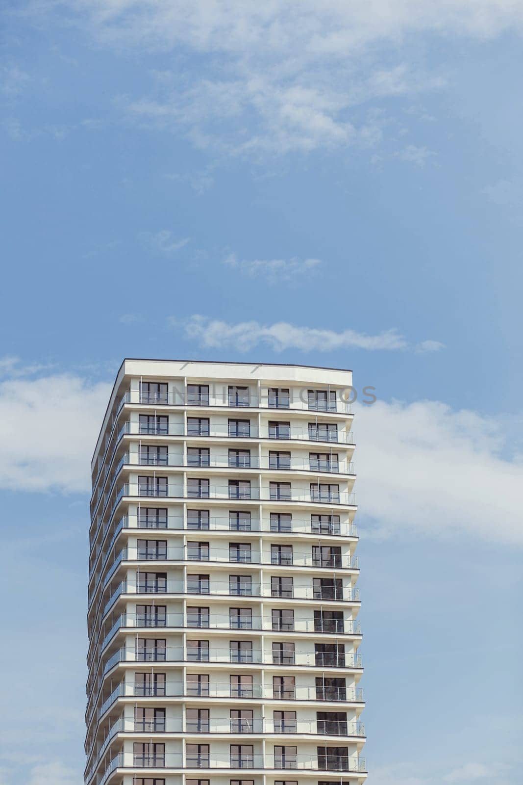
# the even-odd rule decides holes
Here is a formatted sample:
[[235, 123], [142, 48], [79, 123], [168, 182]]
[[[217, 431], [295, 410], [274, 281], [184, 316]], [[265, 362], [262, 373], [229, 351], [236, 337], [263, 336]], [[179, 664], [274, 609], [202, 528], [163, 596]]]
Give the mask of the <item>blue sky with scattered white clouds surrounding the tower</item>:
[[124, 356], [376, 387], [354, 425], [369, 781], [516, 785], [521, 5], [5, 22], [0, 785], [82, 782], [89, 459]]

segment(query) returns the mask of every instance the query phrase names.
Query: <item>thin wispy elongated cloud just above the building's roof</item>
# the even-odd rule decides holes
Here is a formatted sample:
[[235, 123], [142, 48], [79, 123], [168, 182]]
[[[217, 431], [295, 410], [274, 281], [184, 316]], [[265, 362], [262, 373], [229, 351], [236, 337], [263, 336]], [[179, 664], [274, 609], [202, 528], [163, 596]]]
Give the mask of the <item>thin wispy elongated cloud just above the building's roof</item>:
[[[179, 327], [175, 317], [168, 319], [173, 327]], [[209, 319], [194, 314], [183, 323], [187, 338], [198, 341], [208, 349], [237, 349], [247, 352], [258, 345], [267, 345], [275, 352], [285, 349], [298, 349], [300, 352], [332, 352], [336, 349], [379, 349], [394, 351], [411, 348], [409, 342], [397, 330], [385, 330], [376, 335], [360, 333], [356, 330], [321, 330], [315, 327], [298, 327], [287, 322], [260, 324], [259, 322], [239, 322], [230, 324], [220, 319]], [[427, 341], [425, 341], [427, 343]], [[432, 350], [438, 341], [430, 341]], [[441, 345], [438, 347], [441, 348]], [[423, 351], [423, 350], [422, 350]]]

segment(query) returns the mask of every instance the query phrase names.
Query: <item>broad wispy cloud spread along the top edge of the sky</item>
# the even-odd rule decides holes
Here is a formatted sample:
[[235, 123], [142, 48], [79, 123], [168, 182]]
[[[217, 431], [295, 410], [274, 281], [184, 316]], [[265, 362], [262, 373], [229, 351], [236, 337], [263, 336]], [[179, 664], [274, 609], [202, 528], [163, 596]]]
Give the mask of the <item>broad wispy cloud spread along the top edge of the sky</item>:
[[[523, 21], [514, 0], [56, 5], [107, 47], [136, 48], [141, 57], [159, 50], [164, 62], [173, 54], [172, 68], [154, 71], [151, 94], [126, 100], [129, 117], [234, 155], [375, 144], [381, 126], [365, 115], [370, 101], [416, 97], [444, 82], [445, 60], [434, 73], [423, 69], [425, 39], [428, 49], [434, 35], [494, 38]], [[187, 54], [191, 68], [180, 68]], [[422, 165], [428, 155], [413, 145], [401, 157]]]

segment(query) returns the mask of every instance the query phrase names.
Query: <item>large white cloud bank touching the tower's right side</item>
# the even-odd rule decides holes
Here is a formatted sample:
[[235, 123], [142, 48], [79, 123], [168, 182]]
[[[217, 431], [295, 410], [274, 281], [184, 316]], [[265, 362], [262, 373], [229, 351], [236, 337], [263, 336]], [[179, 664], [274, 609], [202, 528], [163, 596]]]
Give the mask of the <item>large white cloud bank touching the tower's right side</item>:
[[[379, 394], [379, 391], [378, 391]], [[523, 544], [521, 455], [491, 416], [438, 401], [357, 405], [358, 503], [373, 534]]]

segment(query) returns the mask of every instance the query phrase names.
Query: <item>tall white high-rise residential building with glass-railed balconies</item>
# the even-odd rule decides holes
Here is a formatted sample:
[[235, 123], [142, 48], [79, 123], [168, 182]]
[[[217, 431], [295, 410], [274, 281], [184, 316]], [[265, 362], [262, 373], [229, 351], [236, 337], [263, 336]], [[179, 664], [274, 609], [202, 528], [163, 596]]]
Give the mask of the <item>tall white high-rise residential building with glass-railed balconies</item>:
[[125, 360], [93, 457], [88, 785], [357, 785], [350, 371]]

